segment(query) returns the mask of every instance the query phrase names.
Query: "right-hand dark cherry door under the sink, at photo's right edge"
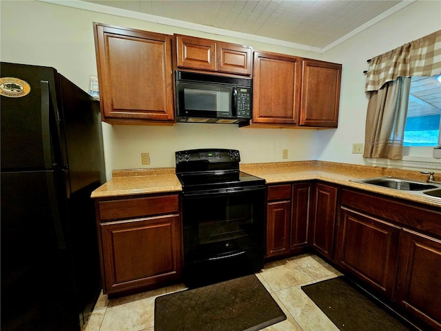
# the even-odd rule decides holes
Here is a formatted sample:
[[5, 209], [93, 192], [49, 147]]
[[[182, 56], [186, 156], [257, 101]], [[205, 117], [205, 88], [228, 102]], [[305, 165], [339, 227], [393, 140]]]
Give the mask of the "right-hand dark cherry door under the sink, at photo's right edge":
[[440, 240], [402, 231], [396, 301], [430, 330], [441, 330], [440, 265]]

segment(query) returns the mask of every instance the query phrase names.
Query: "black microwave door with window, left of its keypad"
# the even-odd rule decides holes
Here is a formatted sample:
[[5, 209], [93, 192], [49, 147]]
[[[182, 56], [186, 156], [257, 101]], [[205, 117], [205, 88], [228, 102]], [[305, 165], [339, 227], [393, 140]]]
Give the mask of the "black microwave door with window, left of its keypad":
[[236, 99], [234, 86], [176, 81], [178, 117], [232, 119], [236, 117]]

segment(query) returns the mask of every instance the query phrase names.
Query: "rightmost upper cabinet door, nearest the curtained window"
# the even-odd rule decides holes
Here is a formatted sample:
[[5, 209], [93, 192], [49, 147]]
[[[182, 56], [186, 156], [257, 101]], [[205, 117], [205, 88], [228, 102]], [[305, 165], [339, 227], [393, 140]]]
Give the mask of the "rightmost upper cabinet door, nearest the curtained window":
[[337, 128], [341, 68], [336, 63], [302, 61], [300, 126]]

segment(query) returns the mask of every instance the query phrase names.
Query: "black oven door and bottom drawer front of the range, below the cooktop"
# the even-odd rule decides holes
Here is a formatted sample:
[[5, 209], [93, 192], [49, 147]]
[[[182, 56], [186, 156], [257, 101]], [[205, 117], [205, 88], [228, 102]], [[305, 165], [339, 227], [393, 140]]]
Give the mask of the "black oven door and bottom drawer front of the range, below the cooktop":
[[185, 283], [263, 268], [265, 186], [183, 193]]

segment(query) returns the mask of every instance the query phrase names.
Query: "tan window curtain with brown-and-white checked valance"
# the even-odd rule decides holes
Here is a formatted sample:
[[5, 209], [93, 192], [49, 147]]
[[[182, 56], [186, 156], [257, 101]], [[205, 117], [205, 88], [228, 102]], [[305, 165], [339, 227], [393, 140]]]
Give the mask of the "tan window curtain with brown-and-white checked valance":
[[441, 30], [371, 59], [363, 157], [402, 159], [410, 77], [440, 73]]

